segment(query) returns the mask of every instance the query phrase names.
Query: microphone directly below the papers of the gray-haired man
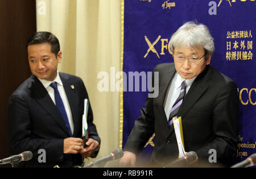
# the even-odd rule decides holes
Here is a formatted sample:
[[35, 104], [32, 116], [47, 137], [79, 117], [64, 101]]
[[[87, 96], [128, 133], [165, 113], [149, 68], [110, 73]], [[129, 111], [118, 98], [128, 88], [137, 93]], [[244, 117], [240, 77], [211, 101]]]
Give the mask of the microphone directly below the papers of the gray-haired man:
[[177, 166], [182, 166], [185, 164], [189, 164], [192, 161], [195, 161], [197, 159], [197, 154], [194, 151], [188, 152], [186, 155], [183, 157], [173, 161], [172, 163], [168, 164], [165, 167], [177, 167]]

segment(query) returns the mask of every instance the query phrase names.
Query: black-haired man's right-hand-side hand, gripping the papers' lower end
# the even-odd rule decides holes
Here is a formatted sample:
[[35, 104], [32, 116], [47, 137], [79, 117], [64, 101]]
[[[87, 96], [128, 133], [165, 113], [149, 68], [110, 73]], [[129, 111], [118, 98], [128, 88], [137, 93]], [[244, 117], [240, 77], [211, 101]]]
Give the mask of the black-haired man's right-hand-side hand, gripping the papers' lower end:
[[81, 153], [81, 155], [83, 157], [90, 157], [90, 156], [92, 156], [93, 153], [98, 150], [98, 147], [100, 145], [100, 143], [97, 140], [94, 140], [92, 138], [89, 138], [88, 141], [86, 141], [85, 144], [87, 145], [87, 147], [82, 148], [79, 151], [79, 153]]

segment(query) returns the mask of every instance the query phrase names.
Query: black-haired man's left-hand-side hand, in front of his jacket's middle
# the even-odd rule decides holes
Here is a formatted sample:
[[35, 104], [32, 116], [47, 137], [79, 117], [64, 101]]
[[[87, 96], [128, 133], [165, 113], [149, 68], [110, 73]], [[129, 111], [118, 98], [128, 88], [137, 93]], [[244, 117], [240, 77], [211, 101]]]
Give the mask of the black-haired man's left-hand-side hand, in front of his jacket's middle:
[[64, 153], [79, 153], [82, 149], [82, 139], [66, 138], [64, 139]]

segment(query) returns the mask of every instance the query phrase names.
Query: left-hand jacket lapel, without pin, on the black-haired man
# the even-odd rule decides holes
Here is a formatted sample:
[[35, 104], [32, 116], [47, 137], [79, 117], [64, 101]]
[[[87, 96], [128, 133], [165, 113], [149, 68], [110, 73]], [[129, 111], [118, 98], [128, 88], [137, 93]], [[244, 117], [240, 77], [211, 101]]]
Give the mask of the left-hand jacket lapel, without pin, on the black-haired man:
[[32, 93], [34, 93], [35, 100], [52, 116], [53, 119], [56, 120], [57, 124], [59, 124], [60, 128], [69, 136], [69, 132], [67, 127], [65, 126], [65, 122], [53, 103], [51, 97], [48, 94], [46, 88], [44, 88], [43, 84], [38, 80], [38, 78], [34, 77], [34, 85], [31, 85]]

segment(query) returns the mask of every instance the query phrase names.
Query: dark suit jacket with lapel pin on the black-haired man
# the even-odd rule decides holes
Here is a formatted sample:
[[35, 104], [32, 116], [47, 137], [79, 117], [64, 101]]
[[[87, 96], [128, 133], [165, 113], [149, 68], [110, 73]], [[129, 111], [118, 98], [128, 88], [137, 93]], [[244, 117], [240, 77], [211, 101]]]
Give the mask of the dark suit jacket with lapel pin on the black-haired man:
[[[88, 98], [88, 94], [81, 78], [65, 73], [59, 75], [71, 107], [74, 122], [73, 137], [81, 138], [84, 99]], [[75, 88], [72, 89], [71, 85]], [[100, 142], [90, 106], [87, 120], [89, 137]], [[33, 153], [33, 159], [27, 161], [25, 166], [69, 167], [82, 163], [80, 154], [63, 153], [64, 139], [71, 136], [47, 90], [34, 75], [24, 81], [9, 99], [8, 128], [11, 152]], [[42, 154], [38, 153], [39, 149], [46, 151], [46, 163], [38, 162], [38, 157]]]

